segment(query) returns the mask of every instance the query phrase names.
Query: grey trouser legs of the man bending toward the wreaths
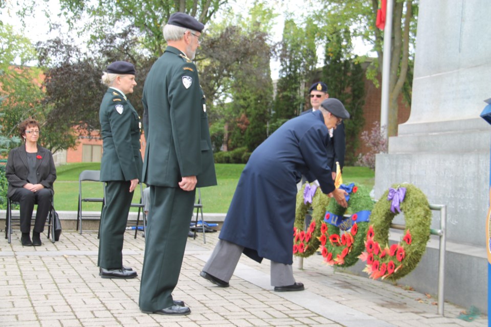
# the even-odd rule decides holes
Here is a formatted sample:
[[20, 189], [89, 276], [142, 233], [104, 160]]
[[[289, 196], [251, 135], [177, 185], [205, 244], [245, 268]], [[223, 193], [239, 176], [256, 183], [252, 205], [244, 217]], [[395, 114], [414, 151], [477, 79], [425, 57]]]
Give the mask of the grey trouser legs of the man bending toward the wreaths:
[[[222, 281], [229, 282], [239, 262], [243, 247], [228, 241], [218, 240], [210, 259], [203, 271]], [[271, 262], [271, 286], [288, 286], [295, 284], [292, 265]]]

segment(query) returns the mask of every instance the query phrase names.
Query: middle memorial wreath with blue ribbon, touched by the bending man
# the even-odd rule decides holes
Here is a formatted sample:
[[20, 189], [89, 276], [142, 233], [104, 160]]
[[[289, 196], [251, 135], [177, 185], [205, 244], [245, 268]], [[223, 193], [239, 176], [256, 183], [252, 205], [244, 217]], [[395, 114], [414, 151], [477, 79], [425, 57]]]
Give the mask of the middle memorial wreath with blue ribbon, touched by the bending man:
[[[363, 186], [352, 183], [342, 184], [340, 188], [348, 192], [348, 208], [330, 201], [321, 225], [320, 250], [328, 265], [349, 267], [358, 261], [358, 256], [365, 249], [373, 202]], [[345, 213], [351, 213], [351, 216], [344, 217]]]

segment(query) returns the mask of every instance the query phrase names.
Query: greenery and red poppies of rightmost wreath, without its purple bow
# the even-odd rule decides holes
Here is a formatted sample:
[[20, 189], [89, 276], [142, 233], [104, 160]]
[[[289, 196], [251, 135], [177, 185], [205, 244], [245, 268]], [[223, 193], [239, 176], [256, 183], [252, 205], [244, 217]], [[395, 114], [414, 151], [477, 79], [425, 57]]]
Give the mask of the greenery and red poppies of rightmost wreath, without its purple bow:
[[363, 271], [373, 279], [396, 281], [413, 271], [430, 239], [432, 214], [426, 195], [412, 184], [392, 185], [393, 189], [399, 187], [406, 188], [404, 201], [399, 206], [406, 222], [403, 239], [389, 246], [390, 224], [397, 215], [390, 210], [392, 201], [387, 200], [389, 190], [375, 204], [370, 216], [366, 251], [360, 255], [360, 259], [367, 262]]

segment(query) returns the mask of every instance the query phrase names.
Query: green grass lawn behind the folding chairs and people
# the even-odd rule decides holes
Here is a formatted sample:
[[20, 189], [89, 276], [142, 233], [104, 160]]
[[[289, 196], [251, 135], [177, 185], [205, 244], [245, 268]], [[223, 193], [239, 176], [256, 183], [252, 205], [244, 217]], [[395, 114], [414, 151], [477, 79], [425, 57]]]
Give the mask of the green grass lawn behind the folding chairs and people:
[[[245, 165], [243, 164], [216, 164], [217, 186], [201, 189], [203, 211], [208, 213], [226, 213], [237, 182]], [[55, 207], [58, 211], [77, 211], [78, 204], [78, 175], [83, 170], [100, 170], [97, 162], [83, 162], [79, 164], [67, 164], [56, 169], [57, 179], [54, 184]], [[343, 182], [358, 182], [369, 190], [374, 184], [374, 173], [366, 167], [345, 167]], [[137, 189], [138, 190], [138, 189]], [[83, 182], [83, 197], [102, 197], [102, 183]], [[140, 201], [140, 192], [135, 192], [133, 203]], [[83, 203], [84, 211], [100, 211], [100, 203]], [[137, 211], [137, 208], [131, 208]]]

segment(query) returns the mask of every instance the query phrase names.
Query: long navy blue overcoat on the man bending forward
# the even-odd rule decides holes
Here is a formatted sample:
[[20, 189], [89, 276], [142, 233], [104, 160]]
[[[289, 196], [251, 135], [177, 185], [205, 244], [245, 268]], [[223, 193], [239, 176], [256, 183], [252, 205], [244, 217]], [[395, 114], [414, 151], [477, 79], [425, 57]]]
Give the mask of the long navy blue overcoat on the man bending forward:
[[243, 253], [258, 262], [266, 258], [291, 265], [297, 182], [304, 175], [317, 179], [324, 193], [335, 189], [328, 141], [319, 110], [278, 128], [245, 165], [219, 238], [243, 246]]

